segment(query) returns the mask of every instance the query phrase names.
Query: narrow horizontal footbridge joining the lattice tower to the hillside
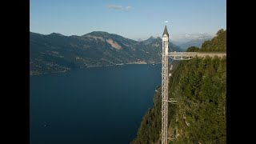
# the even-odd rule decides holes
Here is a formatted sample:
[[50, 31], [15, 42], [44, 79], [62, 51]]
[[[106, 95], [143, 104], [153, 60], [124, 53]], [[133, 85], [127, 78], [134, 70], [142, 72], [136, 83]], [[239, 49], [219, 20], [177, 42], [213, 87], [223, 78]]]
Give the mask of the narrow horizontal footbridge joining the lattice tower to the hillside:
[[173, 58], [174, 60], [190, 60], [195, 57], [223, 57], [226, 56], [226, 52], [170, 52], [168, 57]]

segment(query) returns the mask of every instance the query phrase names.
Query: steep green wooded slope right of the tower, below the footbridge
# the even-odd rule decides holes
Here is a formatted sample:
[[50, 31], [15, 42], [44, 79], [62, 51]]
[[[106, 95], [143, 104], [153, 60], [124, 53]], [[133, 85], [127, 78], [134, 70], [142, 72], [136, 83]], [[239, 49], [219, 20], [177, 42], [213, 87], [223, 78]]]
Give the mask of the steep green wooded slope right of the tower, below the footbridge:
[[180, 62], [171, 82], [174, 143], [226, 143], [226, 58]]

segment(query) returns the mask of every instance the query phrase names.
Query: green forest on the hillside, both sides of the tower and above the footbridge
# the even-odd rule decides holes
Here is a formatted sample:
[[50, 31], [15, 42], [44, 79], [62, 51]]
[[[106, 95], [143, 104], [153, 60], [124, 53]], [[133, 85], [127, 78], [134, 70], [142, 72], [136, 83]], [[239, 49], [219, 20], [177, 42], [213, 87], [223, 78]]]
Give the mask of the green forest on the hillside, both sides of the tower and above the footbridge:
[[[226, 51], [226, 30], [187, 51]], [[171, 71], [169, 97], [169, 143], [226, 143], [226, 57], [192, 58]], [[133, 144], [161, 143], [161, 87], [154, 106], [142, 118]]]

